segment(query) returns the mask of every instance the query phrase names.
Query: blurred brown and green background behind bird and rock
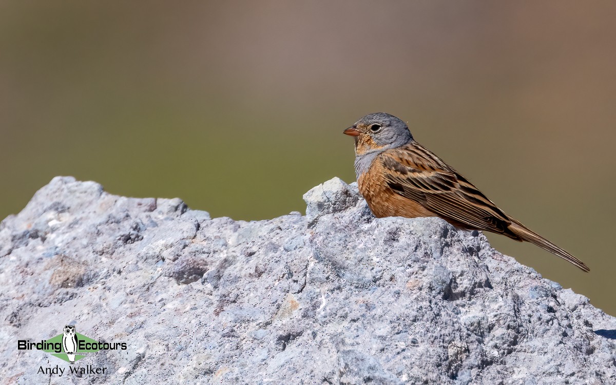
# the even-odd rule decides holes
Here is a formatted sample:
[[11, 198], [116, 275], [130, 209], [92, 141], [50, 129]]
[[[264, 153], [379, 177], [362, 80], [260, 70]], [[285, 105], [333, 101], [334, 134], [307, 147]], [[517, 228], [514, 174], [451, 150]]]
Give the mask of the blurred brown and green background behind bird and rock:
[[0, 1], [0, 218], [57, 175], [233, 219], [352, 182], [386, 111], [591, 267], [493, 246], [616, 315], [616, 2]]

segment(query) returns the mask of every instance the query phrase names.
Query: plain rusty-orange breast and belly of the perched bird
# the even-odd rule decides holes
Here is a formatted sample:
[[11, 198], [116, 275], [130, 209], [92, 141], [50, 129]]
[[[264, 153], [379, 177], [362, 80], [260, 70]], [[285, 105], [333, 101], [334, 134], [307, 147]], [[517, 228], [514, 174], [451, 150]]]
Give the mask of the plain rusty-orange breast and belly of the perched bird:
[[392, 190], [384, 178], [385, 169], [376, 158], [368, 172], [357, 179], [359, 192], [376, 217], [436, 217], [437, 214]]

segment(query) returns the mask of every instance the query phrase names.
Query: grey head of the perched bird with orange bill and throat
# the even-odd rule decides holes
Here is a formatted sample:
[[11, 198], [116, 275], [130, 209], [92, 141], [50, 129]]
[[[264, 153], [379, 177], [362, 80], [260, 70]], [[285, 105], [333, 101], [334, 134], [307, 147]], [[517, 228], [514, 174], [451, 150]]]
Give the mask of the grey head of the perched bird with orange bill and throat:
[[344, 133], [355, 137], [358, 154], [400, 147], [413, 140], [406, 123], [384, 112], [364, 116]]

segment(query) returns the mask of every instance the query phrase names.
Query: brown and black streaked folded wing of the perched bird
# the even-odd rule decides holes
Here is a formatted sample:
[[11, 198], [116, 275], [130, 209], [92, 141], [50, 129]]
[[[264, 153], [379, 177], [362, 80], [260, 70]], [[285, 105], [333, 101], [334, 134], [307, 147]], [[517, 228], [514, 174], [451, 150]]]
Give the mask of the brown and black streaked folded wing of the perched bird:
[[402, 197], [472, 229], [513, 235], [509, 234], [508, 225], [514, 219], [417, 142], [387, 150], [379, 161], [387, 171], [387, 184]]

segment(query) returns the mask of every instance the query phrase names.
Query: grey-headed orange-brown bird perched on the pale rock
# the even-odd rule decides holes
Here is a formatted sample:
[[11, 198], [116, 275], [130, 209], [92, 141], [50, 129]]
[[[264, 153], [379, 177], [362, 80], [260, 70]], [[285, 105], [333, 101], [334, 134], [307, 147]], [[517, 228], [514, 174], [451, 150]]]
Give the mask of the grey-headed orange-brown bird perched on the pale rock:
[[506, 214], [468, 179], [416, 142], [399, 118], [371, 113], [343, 133], [355, 138], [357, 186], [375, 217], [440, 217], [461, 229], [533, 243], [590, 272], [582, 261]]

